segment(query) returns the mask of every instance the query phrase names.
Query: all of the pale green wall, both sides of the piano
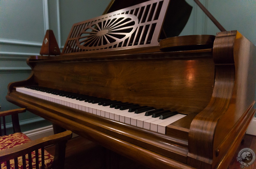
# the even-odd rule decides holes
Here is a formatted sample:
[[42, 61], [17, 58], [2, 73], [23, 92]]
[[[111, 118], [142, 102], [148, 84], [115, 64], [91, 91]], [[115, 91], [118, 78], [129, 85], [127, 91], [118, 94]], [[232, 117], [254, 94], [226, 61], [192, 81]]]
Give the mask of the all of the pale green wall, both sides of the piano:
[[[17, 107], [5, 100], [7, 85], [11, 81], [28, 77], [30, 68], [26, 65], [26, 58], [39, 53], [45, 30], [52, 29], [59, 46], [63, 47], [74, 23], [101, 15], [109, 2], [110, 0], [0, 0], [1, 110]], [[193, 0], [187, 2], [194, 8], [181, 35], [215, 35], [219, 32]], [[238, 30], [256, 45], [255, 0], [201, 2], [226, 30]], [[44, 119], [29, 112], [21, 115], [20, 119], [23, 131], [49, 125]]]

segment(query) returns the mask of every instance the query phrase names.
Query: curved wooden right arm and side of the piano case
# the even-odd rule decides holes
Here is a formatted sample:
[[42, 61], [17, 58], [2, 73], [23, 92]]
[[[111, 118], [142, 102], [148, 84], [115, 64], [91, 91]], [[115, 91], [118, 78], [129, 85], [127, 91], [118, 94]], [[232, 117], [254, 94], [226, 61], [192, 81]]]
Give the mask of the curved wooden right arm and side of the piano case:
[[[188, 161], [196, 164], [195, 166], [198, 168], [218, 166], [217, 163], [221, 158], [229, 161], [227, 154], [236, 151], [230, 149], [232, 147], [230, 144], [237, 145], [241, 141], [250, 119], [255, 114], [255, 110], [252, 108], [255, 102], [254, 96], [246, 92], [248, 88], [253, 90], [249, 81], [255, 77], [252, 77], [254, 75], [249, 70], [253, 70], [251, 65], [255, 64], [255, 61], [250, 63], [249, 60], [252, 59], [251, 56], [255, 56], [255, 46], [241, 46], [241, 43], [250, 43], [248, 40], [244, 40], [239, 32], [230, 31], [220, 32], [214, 41], [213, 59], [216, 66], [212, 99], [207, 107], [193, 119], [189, 130], [188, 141], [191, 146], [189, 146]], [[242, 52], [248, 48], [250, 54]], [[242, 53], [244, 58], [241, 62], [247, 64], [239, 64], [238, 60]], [[244, 66], [247, 69], [244, 69]], [[240, 79], [242, 74], [247, 75], [243, 80]], [[253, 72], [253, 74], [255, 73]], [[237, 95], [237, 93], [241, 95]], [[198, 146], [201, 148], [196, 148]], [[204, 163], [199, 164], [198, 160], [204, 161]]]

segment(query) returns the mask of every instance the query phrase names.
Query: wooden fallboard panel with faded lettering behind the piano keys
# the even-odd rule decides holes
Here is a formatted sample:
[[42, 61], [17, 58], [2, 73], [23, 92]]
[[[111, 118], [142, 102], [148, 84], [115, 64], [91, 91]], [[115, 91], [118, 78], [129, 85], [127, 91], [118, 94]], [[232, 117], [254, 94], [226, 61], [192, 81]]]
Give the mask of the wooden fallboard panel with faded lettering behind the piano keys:
[[125, 62], [41, 62], [33, 70], [39, 86], [173, 109], [185, 114], [204, 109], [210, 101], [214, 83], [214, 64], [209, 57]]

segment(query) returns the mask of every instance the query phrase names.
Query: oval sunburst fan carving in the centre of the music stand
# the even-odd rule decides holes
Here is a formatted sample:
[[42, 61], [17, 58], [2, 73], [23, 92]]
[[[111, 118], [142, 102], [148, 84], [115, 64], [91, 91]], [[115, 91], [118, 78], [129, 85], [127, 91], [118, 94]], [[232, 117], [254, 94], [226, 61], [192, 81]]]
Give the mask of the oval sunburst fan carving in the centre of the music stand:
[[120, 14], [92, 22], [80, 32], [76, 44], [82, 49], [99, 49], [118, 44], [137, 28], [134, 15]]

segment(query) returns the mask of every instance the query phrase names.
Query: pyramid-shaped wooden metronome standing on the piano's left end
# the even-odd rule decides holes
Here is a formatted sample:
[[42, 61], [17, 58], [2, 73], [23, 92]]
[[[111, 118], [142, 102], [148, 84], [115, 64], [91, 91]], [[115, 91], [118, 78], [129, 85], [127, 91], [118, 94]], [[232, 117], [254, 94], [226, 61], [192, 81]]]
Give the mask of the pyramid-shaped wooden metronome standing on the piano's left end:
[[59, 55], [60, 48], [52, 30], [48, 29], [40, 50], [40, 55]]

